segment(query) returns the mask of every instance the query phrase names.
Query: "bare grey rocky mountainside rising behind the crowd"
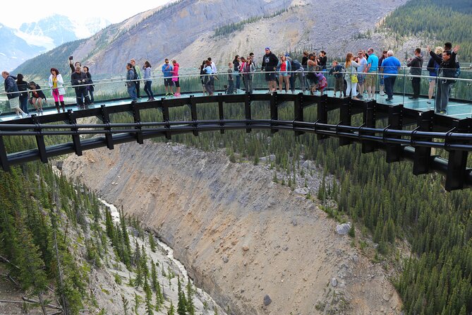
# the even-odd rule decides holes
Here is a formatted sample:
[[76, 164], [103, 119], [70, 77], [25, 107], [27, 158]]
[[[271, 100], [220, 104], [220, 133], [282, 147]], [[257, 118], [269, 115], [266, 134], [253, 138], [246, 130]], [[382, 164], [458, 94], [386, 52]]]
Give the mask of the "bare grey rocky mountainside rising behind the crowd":
[[[71, 54], [95, 75], [121, 74], [131, 58], [138, 64], [149, 60], [152, 65], [175, 58], [182, 68], [189, 68], [210, 56], [223, 65], [235, 54], [255, 52], [260, 62], [267, 46], [276, 54], [325, 49], [329, 57], [342, 59], [349, 51], [389, 47], [388, 38], [360, 34], [373, 31], [406, 1], [373, 0], [346, 6], [346, 1], [333, 0], [323, 7], [314, 0], [255, 0], [249, 6], [234, 0], [176, 1], [109, 26]], [[214, 36], [217, 28], [241, 21], [242, 27], [235, 32]]]

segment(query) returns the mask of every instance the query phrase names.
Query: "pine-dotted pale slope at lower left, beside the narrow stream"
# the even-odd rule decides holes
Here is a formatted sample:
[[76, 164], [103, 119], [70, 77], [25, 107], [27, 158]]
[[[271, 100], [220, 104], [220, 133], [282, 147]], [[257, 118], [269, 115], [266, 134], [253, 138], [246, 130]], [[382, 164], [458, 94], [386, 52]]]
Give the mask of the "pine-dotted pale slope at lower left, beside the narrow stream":
[[[6, 139], [8, 149], [21, 149], [22, 141], [10, 141]], [[121, 297], [123, 314], [141, 314], [140, 307], [147, 315], [155, 311], [195, 314], [190, 279], [183, 288], [178, 278], [176, 313], [174, 306], [169, 306], [159, 273], [168, 278], [171, 290], [171, 279], [176, 275], [169, 267], [164, 271], [164, 265], [138, 244], [138, 239], [149, 240], [150, 250], [157, 251], [155, 238], [143, 230], [140, 220], [125, 216], [123, 209], [119, 222], [114, 222], [108, 208], [102, 215], [95, 194], [56, 174], [52, 165], [34, 162], [0, 172], [0, 204], [0, 263], [27, 297], [39, 301], [42, 314], [49, 314], [46, 306], [52, 298], [59, 302], [63, 314], [98, 307], [87, 279], [91, 268], [109, 264], [111, 251], [130, 275], [133, 273], [128, 285], [144, 292], [143, 296], [136, 294], [133, 301]], [[129, 227], [138, 239], [129, 235]], [[120, 275], [115, 274], [114, 280], [121, 284]], [[107, 313], [102, 309], [99, 314]]]

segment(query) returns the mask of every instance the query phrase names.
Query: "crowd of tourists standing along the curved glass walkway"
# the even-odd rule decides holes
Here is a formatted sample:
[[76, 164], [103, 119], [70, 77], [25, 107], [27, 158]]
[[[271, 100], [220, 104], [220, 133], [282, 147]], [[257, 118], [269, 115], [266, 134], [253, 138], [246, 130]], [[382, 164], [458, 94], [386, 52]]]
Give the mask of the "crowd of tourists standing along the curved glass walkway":
[[[455, 80], [444, 78], [457, 78], [460, 73], [459, 63], [456, 61], [456, 53], [459, 46], [452, 47], [450, 42], [446, 42], [444, 47], [435, 49], [427, 48], [430, 59], [427, 70], [429, 73], [428, 103], [431, 103], [435, 96], [436, 112], [447, 113], [449, 93], [451, 85]], [[420, 95], [420, 81], [423, 68], [424, 52], [416, 48], [413, 57], [406, 60], [406, 66], [410, 67], [412, 77], [411, 85], [413, 95], [411, 100], [417, 100]], [[73, 57], [69, 57], [71, 68], [71, 85], [75, 90], [76, 103], [79, 108], [86, 108], [94, 103], [93, 92], [95, 85], [92, 81], [89, 68], [82, 66], [80, 62], [73, 63]], [[290, 54], [280, 54], [277, 57], [270, 47], [265, 48], [260, 65], [251, 52], [247, 57], [236, 55], [233, 61], [228, 62], [228, 67], [223, 71], [227, 84], [224, 85], [226, 94], [253, 93], [253, 81], [256, 71], [265, 75], [267, 82], [267, 93], [274, 93], [279, 90], [285, 93], [295, 93], [298, 82], [302, 92], [308, 91], [311, 95], [322, 95], [327, 88], [326, 76], [334, 77], [334, 97], [351, 97], [353, 100], [373, 100], [375, 98], [377, 81], [379, 83], [380, 95], [387, 95], [386, 102], [392, 102], [394, 97], [394, 85], [399, 75], [401, 62], [394, 56], [392, 50], [384, 50], [380, 56], [375, 54], [372, 47], [366, 51], [359, 50], [357, 54], [348, 52], [344, 60], [333, 60], [332, 66], [327, 71], [327, 54], [325, 51], [303, 52], [301, 60], [291, 58]], [[149, 61], [145, 61], [143, 66], [137, 66], [135, 59], [131, 59], [126, 64], [126, 88], [131, 102], [135, 103], [140, 98], [140, 82], [144, 83], [144, 92], [147, 101], [153, 101], [152, 92], [152, 66]], [[142, 70], [142, 71], [141, 71]], [[179, 64], [173, 59], [164, 60], [161, 67], [164, 78], [164, 89], [166, 96], [179, 97], [181, 87], [179, 81]], [[203, 95], [213, 95], [214, 81], [219, 78], [217, 66], [212, 58], [202, 61], [199, 67], [200, 82], [202, 84]], [[32, 105], [37, 114], [42, 114], [43, 105], [47, 102], [40, 85], [34, 81], [25, 81], [23, 75], [18, 73], [12, 76], [8, 71], [3, 71], [5, 79], [5, 91], [11, 109], [16, 112], [18, 118], [28, 117], [28, 103]], [[437, 78], [441, 77], [441, 80]], [[244, 91], [241, 89], [241, 81]], [[225, 81], [226, 83], [226, 81]], [[49, 89], [54, 98], [57, 112], [65, 112], [66, 107], [63, 100], [66, 90], [63, 87], [63, 78], [59, 70], [50, 69], [48, 79]], [[437, 85], [437, 86], [436, 86]], [[436, 90], [435, 95], [434, 91]], [[339, 96], [337, 96], [339, 93]]]

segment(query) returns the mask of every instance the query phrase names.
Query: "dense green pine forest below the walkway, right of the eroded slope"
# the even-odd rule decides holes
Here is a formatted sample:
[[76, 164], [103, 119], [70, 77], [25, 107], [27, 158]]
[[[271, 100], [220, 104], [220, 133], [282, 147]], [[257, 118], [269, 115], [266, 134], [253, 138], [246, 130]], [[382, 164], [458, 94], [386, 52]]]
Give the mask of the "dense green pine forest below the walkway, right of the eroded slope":
[[[253, 117], [267, 117], [268, 107], [263, 102], [253, 102]], [[243, 105], [234, 104], [225, 110], [225, 117], [243, 118]], [[190, 119], [190, 110], [186, 108], [174, 108], [170, 114], [171, 119]], [[198, 117], [215, 119], [217, 105], [199, 108]], [[161, 119], [156, 112], [146, 112], [141, 118], [143, 121]], [[305, 109], [304, 118], [315, 121], [316, 108]], [[119, 121], [119, 117], [115, 119]], [[279, 119], [293, 119], [293, 107], [280, 107]], [[334, 116], [329, 119], [335, 120]], [[411, 244], [411, 256], [397, 261], [401, 273], [392, 280], [403, 299], [406, 314], [472, 311], [469, 190], [447, 193], [442, 176], [415, 177], [410, 162], [387, 164], [384, 153], [363, 155], [360, 145], [339, 147], [337, 139], [320, 142], [313, 134], [294, 138], [294, 133], [283, 131], [272, 135], [271, 141], [261, 141], [268, 136], [268, 131], [226, 131], [200, 133], [198, 137], [181, 134], [173, 136], [173, 141], [207, 151], [224, 147], [234, 160], [251, 161], [255, 156], [275, 154], [276, 167], [292, 172], [301, 172], [294, 157], [303, 155], [306, 160], [314, 160], [336, 178], [332, 183], [325, 183], [325, 190], [319, 196], [332, 198], [337, 202], [338, 213], [348, 215], [361, 230], [365, 227], [379, 245], [377, 254], [385, 258], [395, 256], [396, 242], [406, 239]], [[447, 158], [447, 153], [444, 157]]]

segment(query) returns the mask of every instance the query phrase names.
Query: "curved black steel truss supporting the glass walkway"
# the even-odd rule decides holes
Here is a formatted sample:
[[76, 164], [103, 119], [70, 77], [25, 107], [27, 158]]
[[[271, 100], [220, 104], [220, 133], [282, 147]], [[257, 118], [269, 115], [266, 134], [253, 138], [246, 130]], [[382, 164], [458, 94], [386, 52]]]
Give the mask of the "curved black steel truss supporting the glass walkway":
[[[252, 119], [251, 102], [270, 103], [270, 119]], [[294, 106], [294, 120], [279, 119], [279, 107], [291, 102]], [[217, 103], [219, 119], [199, 120], [197, 107], [202, 103]], [[243, 103], [245, 119], [225, 119], [225, 103]], [[303, 121], [303, 109], [317, 106], [317, 120]], [[191, 121], [170, 121], [169, 108], [189, 106]], [[159, 109], [162, 121], [143, 122], [140, 111]], [[339, 109], [339, 123], [328, 124], [328, 112]], [[132, 123], [112, 123], [110, 114], [128, 112], [133, 116]], [[352, 116], [363, 114], [361, 126], [351, 126]], [[77, 124], [77, 119], [99, 117], [102, 124]], [[387, 127], [376, 128], [377, 121], [387, 121]], [[63, 122], [63, 124], [52, 124]], [[416, 126], [413, 130], [403, 130], [404, 126]], [[353, 142], [361, 143], [362, 153], [385, 150], [387, 162], [399, 160], [413, 161], [413, 174], [439, 172], [446, 176], [445, 189], [464, 189], [472, 186], [471, 170], [466, 167], [468, 151], [472, 150], [472, 119], [453, 119], [437, 115], [433, 111], [418, 112], [403, 105], [382, 105], [375, 101], [363, 102], [327, 97], [327, 95], [303, 94], [254, 94], [254, 95], [213, 95], [204, 97], [183, 97], [178, 99], [155, 100], [136, 104], [116, 105], [85, 109], [78, 112], [35, 116], [0, 124], [0, 165], [9, 170], [10, 165], [41, 160], [49, 157], [75, 153], [82, 155], [83, 150], [90, 150], [130, 141], [143, 143], [146, 138], [164, 136], [171, 138], [178, 133], [201, 131], [220, 131], [229, 129], [266, 129], [275, 133], [279, 130], [294, 131], [296, 136], [303, 133], [316, 133], [318, 139], [339, 138], [339, 145]], [[62, 129], [62, 130], [61, 130]], [[66, 129], [66, 130], [63, 130]], [[90, 130], [92, 129], [92, 130]], [[102, 135], [81, 139], [80, 135]], [[16, 153], [6, 153], [4, 136], [35, 136], [37, 148]], [[46, 146], [44, 136], [70, 135], [71, 142]], [[441, 148], [449, 153], [449, 160], [431, 155], [432, 148]]]

